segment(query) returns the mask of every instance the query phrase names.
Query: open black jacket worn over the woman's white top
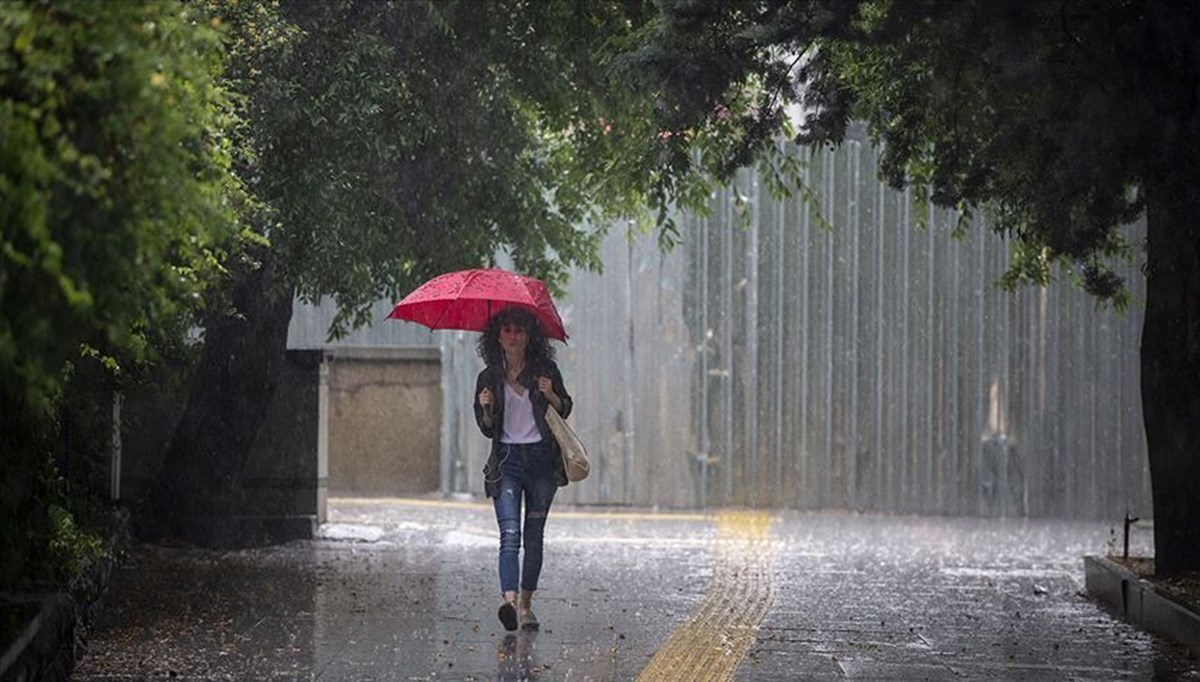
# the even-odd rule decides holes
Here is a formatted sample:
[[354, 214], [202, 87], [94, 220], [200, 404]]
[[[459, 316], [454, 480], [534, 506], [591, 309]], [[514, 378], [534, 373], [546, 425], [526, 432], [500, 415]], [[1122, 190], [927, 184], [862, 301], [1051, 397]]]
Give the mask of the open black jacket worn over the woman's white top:
[[[551, 456], [554, 459], [554, 478], [559, 487], [566, 485], [566, 467], [563, 466], [563, 453], [554, 441], [554, 435], [546, 424], [546, 408], [550, 401], [538, 390], [538, 377], [550, 377], [554, 387], [554, 394], [563, 401], [563, 419], [571, 415], [572, 401], [566, 387], [563, 385], [563, 375], [558, 371], [558, 365], [553, 361], [534, 363], [526, 367], [521, 375], [521, 385], [529, 391], [529, 402], [533, 403], [533, 419], [538, 424], [538, 432], [541, 439], [550, 444]], [[484, 425], [484, 406], [479, 403], [479, 391], [487, 387], [492, 390], [492, 427]], [[484, 492], [488, 497], [500, 493], [499, 449], [500, 436], [504, 432], [504, 367], [488, 366], [475, 377], [475, 424], [484, 436], [492, 439], [492, 453], [484, 466]]]

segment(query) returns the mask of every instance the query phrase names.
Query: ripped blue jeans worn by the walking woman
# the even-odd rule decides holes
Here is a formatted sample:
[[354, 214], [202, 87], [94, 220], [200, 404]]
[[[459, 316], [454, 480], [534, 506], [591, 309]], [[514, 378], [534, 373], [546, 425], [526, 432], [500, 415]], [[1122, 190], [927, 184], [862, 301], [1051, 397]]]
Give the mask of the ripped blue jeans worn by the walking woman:
[[[545, 443], [500, 444], [500, 493], [492, 501], [500, 527], [500, 592], [538, 588], [541, 574], [542, 537], [546, 515], [554, 501], [558, 483], [551, 466], [551, 449]], [[518, 558], [522, 540], [521, 507], [524, 499], [524, 562]]]

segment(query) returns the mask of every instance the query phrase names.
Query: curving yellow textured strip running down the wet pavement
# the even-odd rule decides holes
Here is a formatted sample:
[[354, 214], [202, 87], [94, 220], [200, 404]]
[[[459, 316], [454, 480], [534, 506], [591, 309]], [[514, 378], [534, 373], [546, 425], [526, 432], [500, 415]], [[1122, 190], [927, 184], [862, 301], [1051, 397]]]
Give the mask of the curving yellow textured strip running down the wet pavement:
[[755, 641], [772, 592], [772, 516], [716, 516], [713, 582], [704, 599], [654, 654], [638, 682], [730, 680]]

